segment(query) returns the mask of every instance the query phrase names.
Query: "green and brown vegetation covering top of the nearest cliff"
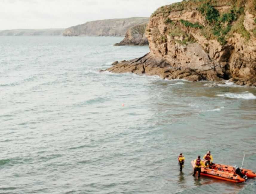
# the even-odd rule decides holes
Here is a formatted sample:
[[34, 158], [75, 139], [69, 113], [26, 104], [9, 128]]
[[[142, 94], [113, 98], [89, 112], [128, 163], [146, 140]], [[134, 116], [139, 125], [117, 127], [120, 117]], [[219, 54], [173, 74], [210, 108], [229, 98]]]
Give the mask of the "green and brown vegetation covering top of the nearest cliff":
[[[245, 4], [248, 7], [245, 7]], [[228, 12], [220, 12], [216, 6], [230, 6]], [[199, 23], [191, 23], [186, 20], [180, 20], [181, 24], [186, 27], [197, 28], [207, 39], [216, 39], [221, 45], [227, 43], [227, 38], [236, 32], [241, 34], [246, 40], [250, 39], [249, 32], [243, 26], [245, 10], [256, 16], [256, 0], [188, 0], [171, 5], [162, 6], [157, 9], [151, 17], [162, 16], [167, 18], [171, 12], [182, 10], [198, 10], [206, 19], [206, 26]], [[255, 18], [256, 23], [256, 18]], [[165, 19], [165, 24], [174, 25], [175, 22], [170, 18]], [[255, 34], [256, 30], [253, 31]], [[176, 31], [171, 33], [175, 33]]]

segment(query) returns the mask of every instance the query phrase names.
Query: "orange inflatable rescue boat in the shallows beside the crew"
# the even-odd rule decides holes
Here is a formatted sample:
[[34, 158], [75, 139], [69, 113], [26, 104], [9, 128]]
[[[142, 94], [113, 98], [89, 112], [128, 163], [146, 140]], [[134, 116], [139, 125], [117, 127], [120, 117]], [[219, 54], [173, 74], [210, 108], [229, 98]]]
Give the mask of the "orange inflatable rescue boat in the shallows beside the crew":
[[[193, 168], [195, 167], [194, 160], [191, 161]], [[227, 167], [227, 168], [225, 168]], [[232, 168], [232, 169], [231, 169]], [[245, 172], [245, 169], [243, 169]], [[248, 171], [247, 171], [248, 172]], [[226, 165], [214, 165], [213, 168], [201, 168], [201, 175], [208, 176], [215, 179], [220, 179], [224, 181], [240, 183], [245, 182], [246, 178], [243, 178], [235, 173], [233, 167]]]

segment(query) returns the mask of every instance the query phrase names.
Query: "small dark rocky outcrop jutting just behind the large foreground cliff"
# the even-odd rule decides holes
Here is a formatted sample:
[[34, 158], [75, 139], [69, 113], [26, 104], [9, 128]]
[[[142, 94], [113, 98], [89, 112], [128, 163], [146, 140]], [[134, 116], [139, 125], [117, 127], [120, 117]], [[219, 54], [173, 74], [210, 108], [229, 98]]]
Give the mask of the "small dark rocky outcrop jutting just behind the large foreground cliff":
[[148, 38], [146, 37], [146, 34], [145, 34], [147, 24], [148, 24], [148, 22], [129, 28], [125, 34], [124, 40], [122, 40], [120, 43], [114, 44], [114, 46], [148, 45]]

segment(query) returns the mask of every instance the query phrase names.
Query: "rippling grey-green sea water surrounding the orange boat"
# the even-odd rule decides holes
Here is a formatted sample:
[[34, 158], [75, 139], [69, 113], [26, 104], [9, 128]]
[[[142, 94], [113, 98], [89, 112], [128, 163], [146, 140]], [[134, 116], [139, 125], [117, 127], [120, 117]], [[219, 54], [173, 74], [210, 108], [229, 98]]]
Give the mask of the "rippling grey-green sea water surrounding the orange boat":
[[121, 39], [0, 37], [0, 193], [256, 193], [190, 164], [256, 171], [256, 89], [99, 73], [149, 51]]

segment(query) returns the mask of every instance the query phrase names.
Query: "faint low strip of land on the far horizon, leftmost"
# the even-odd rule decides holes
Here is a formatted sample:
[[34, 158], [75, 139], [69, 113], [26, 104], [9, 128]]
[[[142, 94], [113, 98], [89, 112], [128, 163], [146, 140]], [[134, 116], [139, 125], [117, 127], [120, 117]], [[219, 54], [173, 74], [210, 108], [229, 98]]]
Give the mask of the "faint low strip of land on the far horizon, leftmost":
[[0, 36], [60, 36], [64, 29], [13, 29], [2, 30]]

